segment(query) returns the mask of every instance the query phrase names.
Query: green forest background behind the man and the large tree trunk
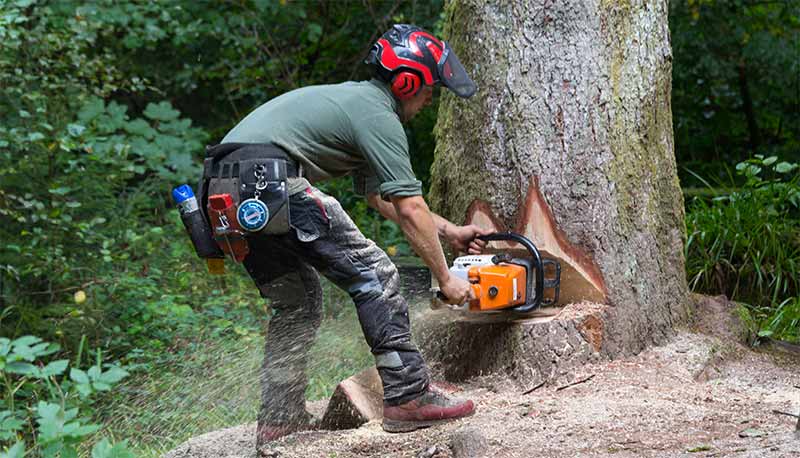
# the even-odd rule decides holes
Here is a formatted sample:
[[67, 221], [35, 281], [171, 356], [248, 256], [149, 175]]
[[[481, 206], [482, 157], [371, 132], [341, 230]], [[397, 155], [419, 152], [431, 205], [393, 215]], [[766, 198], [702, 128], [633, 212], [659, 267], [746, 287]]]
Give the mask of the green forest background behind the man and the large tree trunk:
[[[252, 414], [178, 430], [128, 402], [142, 399], [136, 390], [163, 398], [187, 374], [208, 379], [200, 369], [225, 366], [212, 356], [242, 341], [257, 350], [268, 317], [240, 268], [207, 276], [170, 190], [196, 183], [204, 145], [250, 110], [293, 88], [369, 78], [362, 61], [383, 31], [408, 22], [439, 34], [443, 7], [0, 0], [0, 456], [157, 454]], [[754, 345], [796, 342], [800, 2], [679, 0], [669, 20], [687, 278], [739, 301]], [[436, 112], [435, 102], [407, 126], [426, 187]], [[324, 188], [390, 254], [411, 255], [349, 179]], [[337, 294], [329, 319], [352, 314]], [[312, 398], [365, 361], [331, 326], [321, 339], [344, 350], [315, 369]]]

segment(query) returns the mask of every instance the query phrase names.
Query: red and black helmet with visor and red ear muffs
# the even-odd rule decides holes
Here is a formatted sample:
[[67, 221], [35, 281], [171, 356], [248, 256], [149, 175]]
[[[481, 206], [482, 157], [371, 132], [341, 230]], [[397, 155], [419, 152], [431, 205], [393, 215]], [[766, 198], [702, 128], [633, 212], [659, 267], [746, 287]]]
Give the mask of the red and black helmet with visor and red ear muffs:
[[413, 97], [422, 85], [442, 86], [459, 97], [475, 91], [475, 83], [447, 42], [414, 25], [397, 24], [373, 45], [366, 62], [375, 65], [378, 77], [391, 84], [400, 100]]

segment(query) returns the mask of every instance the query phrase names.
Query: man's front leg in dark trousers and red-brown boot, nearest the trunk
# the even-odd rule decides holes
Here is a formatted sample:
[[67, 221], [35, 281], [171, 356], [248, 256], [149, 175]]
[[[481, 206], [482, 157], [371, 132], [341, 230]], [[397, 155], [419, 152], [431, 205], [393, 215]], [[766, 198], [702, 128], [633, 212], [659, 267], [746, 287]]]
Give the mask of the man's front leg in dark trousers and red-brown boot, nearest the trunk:
[[[304, 229], [303, 259], [350, 293], [383, 381], [383, 428], [413, 431], [471, 415], [475, 405], [430, 385], [425, 362], [411, 343], [408, 305], [386, 253], [368, 240], [332, 197], [312, 190], [292, 201]], [[296, 229], [299, 229], [297, 226]], [[300, 242], [299, 240], [304, 240]]]

